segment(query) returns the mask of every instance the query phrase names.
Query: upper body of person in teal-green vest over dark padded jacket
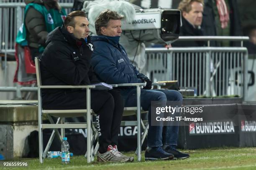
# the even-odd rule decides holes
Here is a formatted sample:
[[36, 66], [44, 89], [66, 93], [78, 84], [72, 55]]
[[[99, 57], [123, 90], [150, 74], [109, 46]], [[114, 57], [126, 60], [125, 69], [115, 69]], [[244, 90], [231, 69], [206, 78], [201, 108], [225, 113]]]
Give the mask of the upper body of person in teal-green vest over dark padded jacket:
[[16, 42], [28, 46], [34, 58], [44, 51], [48, 33], [63, 25], [67, 13], [57, 0], [26, 0], [26, 4]]

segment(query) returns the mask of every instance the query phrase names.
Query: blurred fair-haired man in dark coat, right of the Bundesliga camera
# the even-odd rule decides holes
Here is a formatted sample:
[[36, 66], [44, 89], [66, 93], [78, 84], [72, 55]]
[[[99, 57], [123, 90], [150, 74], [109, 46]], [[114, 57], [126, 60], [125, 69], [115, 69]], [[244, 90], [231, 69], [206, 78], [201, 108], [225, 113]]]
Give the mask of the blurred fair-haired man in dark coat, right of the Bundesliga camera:
[[[178, 9], [182, 12], [182, 27], [180, 36], [203, 36], [201, 28], [203, 18], [203, 0], [182, 0]], [[205, 46], [202, 41], [177, 41], [172, 43], [174, 47], [198, 47]]]

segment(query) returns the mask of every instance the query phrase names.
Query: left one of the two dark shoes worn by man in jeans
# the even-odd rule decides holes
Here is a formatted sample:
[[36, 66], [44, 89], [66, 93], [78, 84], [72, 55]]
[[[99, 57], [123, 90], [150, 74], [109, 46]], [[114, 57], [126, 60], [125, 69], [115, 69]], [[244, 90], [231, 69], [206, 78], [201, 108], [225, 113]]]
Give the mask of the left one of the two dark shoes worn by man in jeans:
[[174, 155], [167, 153], [161, 147], [147, 147], [145, 152], [145, 160], [172, 160]]

